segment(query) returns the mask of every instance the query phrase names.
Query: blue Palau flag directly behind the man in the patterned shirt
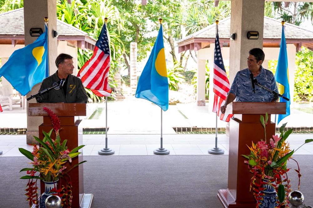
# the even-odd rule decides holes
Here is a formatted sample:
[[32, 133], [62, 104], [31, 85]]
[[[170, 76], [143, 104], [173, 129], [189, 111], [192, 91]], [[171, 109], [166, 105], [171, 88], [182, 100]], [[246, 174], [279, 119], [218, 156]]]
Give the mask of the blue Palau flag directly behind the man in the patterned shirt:
[[[280, 83], [280, 94], [290, 99], [285, 26], [282, 27], [282, 32], [281, 32], [280, 51], [279, 51], [277, 68], [275, 72], [275, 79], [276, 79], [276, 82]], [[283, 118], [290, 115], [290, 100], [287, 101], [284, 98], [280, 97], [280, 102], [286, 103], [286, 114], [278, 115], [277, 124], [279, 124], [279, 122]]]

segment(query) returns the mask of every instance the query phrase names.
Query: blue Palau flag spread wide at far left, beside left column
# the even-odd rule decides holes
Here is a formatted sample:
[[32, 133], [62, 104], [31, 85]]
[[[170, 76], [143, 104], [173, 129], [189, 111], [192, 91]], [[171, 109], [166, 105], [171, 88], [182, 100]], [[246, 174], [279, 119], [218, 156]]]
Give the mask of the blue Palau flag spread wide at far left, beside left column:
[[35, 42], [12, 53], [0, 68], [1, 76], [23, 96], [49, 76], [47, 23], [45, 32]]

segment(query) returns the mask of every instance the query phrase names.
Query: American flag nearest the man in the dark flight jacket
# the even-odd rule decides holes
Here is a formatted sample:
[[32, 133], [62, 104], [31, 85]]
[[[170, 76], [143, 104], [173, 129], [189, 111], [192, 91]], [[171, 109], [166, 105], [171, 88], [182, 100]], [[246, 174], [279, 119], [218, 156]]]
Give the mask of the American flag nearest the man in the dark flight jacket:
[[95, 50], [84, 66], [77, 74], [87, 89], [91, 89], [98, 96], [110, 96], [108, 77], [110, 71], [110, 36], [106, 29], [106, 23], [103, 25]]

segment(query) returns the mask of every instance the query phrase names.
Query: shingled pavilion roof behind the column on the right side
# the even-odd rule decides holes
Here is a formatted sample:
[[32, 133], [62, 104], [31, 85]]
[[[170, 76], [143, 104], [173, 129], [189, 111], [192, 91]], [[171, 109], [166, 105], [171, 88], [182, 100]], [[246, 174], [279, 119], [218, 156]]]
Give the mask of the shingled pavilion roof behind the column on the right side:
[[[286, 43], [294, 43], [297, 47], [303, 45], [313, 50], [313, 31], [289, 23], [285, 23], [285, 26]], [[281, 39], [281, 29], [280, 20], [264, 17], [263, 44], [276, 43], [278, 46]], [[214, 23], [186, 38], [178, 40], [178, 51], [182, 52], [187, 49], [195, 49], [197, 51], [204, 48], [209, 43], [214, 43], [215, 33], [216, 24]], [[218, 36], [221, 43], [230, 42], [230, 17], [218, 23]]]

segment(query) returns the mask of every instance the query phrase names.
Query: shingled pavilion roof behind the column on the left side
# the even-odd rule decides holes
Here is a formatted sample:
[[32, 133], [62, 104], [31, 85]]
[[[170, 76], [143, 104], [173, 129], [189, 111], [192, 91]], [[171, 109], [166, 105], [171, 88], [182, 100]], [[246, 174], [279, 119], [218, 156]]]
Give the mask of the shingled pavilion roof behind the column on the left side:
[[[0, 40], [24, 39], [24, 8], [0, 14], [0, 25]], [[58, 19], [57, 31], [59, 33], [58, 40], [78, 41], [78, 47], [85, 46], [93, 49], [97, 41], [89, 37], [86, 32]]]

